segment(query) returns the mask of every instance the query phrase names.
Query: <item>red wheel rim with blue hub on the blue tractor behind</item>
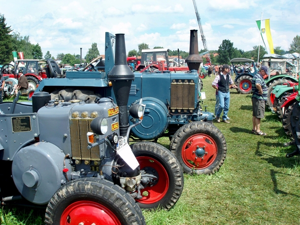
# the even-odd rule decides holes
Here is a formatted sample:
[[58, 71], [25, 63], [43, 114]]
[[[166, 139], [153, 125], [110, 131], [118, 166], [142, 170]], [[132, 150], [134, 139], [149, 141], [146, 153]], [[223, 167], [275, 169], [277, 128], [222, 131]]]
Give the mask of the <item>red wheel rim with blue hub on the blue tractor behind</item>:
[[205, 134], [196, 134], [184, 142], [181, 156], [186, 166], [200, 170], [209, 167], [214, 162], [217, 152], [214, 139]]

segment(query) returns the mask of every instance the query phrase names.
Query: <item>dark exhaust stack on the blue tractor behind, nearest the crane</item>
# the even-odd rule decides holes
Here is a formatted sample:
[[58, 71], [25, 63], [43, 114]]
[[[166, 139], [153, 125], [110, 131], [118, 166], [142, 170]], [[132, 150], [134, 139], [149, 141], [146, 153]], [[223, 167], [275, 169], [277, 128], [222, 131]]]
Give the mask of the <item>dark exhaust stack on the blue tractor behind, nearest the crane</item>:
[[189, 42], [189, 55], [185, 59], [189, 71], [199, 70], [200, 63], [203, 62], [201, 56], [199, 56], [198, 51], [198, 35], [196, 29], [191, 29], [190, 42]]

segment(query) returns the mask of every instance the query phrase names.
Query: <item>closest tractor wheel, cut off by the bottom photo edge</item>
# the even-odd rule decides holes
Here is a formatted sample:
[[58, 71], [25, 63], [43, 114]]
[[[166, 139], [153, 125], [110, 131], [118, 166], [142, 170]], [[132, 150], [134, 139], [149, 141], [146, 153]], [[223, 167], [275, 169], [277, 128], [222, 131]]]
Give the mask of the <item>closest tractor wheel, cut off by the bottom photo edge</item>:
[[129, 194], [97, 178], [73, 180], [58, 189], [48, 203], [45, 223], [146, 224], [140, 207]]

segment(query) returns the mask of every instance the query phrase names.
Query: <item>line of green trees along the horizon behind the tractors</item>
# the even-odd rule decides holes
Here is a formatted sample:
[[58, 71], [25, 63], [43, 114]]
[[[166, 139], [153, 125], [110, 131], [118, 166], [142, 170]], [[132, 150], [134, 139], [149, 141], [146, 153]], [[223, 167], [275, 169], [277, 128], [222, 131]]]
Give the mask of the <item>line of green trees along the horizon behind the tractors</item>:
[[[18, 32], [13, 31], [11, 26], [7, 26], [5, 23], [6, 19], [3, 14], [0, 14], [0, 64], [8, 63], [13, 60], [12, 51], [23, 52], [24, 58], [26, 59], [42, 59], [43, 53], [39, 43], [31, 44], [29, 41], [29, 36], [22, 37]], [[163, 48], [160, 46], [155, 46], [155, 48]], [[140, 56], [143, 49], [149, 49], [149, 45], [141, 43], [138, 45], [138, 49], [133, 49], [128, 52], [128, 56]], [[205, 52], [205, 50], [199, 51], [199, 54]], [[300, 52], [300, 36], [293, 38], [292, 43], [290, 44], [289, 51], [281, 49], [280, 46], [274, 48], [275, 54], [283, 55], [286, 53]], [[218, 53], [215, 57], [213, 53]], [[178, 55], [177, 50], [170, 50], [169, 55]], [[259, 59], [262, 59], [262, 56], [266, 54], [266, 50], [263, 46], [259, 46]], [[186, 58], [189, 53], [180, 50], [179, 55], [182, 58]], [[84, 56], [86, 62], [90, 62], [93, 58], [99, 56], [99, 50], [96, 43], [92, 43], [91, 48], [88, 49], [87, 54]], [[249, 58], [257, 61], [258, 57], [258, 46], [253, 46], [251, 51], [244, 51], [242, 49], [237, 49], [234, 47], [234, 43], [230, 40], [223, 40], [222, 44], [219, 46], [218, 50], [210, 51], [210, 58], [212, 64], [225, 64], [229, 63], [232, 58]], [[47, 51], [44, 55], [44, 58], [53, 58], [50, 54], [50, 51]], [[57, 54], [56, 58], [60, 58], [62, 63], [74, 65], [80, 63], [80, 55], [77, 54]], [[206, 63], [206, 58], [204, 57], [204, 63]]]

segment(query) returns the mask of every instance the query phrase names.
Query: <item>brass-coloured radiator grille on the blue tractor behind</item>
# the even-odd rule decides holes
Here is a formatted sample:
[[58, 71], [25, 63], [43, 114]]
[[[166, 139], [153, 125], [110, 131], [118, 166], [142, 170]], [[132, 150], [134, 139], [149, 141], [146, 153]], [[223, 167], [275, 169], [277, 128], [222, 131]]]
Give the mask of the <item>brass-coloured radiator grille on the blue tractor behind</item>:
[[195, 83], [187, 80], [171, 83], [171, 109], [194, 109]]

